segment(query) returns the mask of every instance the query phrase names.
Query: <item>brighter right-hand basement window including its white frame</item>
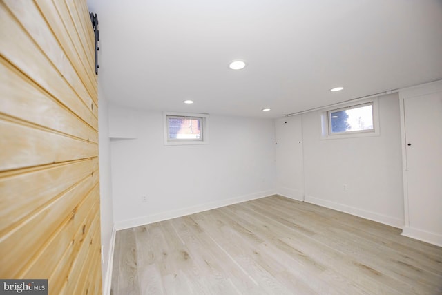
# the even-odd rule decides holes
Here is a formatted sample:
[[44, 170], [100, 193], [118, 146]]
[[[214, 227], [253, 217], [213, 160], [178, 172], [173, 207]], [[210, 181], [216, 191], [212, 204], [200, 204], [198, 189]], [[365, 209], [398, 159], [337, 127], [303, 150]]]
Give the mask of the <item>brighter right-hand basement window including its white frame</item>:
[[377, 98], [323, 111], [323, 139], [379, 135]]

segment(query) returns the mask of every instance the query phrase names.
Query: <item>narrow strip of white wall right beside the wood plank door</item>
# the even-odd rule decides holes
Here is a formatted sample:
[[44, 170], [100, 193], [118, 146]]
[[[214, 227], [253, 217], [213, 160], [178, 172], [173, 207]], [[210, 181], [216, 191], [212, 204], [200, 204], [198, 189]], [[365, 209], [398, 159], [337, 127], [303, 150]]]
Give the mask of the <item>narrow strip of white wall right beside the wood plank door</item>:
[[[100, 192], [100, 220], [103, 247], [103, 287], [110, 283], [108, 272], [111, 268], [110, 261], [113, 255], [113, 204], [111, 186], [111, 141], [108, 136], [108, 102], [98, 85], [98, 140], [99, 140], [99, 192]], [[108, 280], [108, 281], [106, 281]]]

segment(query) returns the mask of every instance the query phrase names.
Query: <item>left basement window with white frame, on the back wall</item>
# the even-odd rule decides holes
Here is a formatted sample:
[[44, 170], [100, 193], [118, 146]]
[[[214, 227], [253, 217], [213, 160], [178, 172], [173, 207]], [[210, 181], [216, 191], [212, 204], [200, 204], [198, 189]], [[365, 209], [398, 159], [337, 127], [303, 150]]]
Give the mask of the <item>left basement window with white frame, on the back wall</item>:
[[164, 144], [208, 143], [208, 118], [206, 114], [164, 112]]

